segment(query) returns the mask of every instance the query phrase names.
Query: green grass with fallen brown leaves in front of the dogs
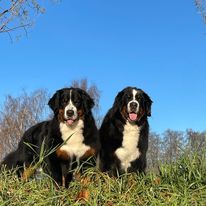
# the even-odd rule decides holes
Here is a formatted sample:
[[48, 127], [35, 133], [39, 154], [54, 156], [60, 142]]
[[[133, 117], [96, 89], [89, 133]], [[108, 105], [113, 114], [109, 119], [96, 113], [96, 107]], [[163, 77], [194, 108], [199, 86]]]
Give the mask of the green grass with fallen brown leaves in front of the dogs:
[[[22, 181], [14, 171], [0, 174], [0, 206], [3, 205], [206, 205], [206, 155], [184, 156], [160, 166], [160, 174], [125, 174], [111, 178], [95, 168], [71, 182], [69, 189], [57, 188], [45, 176]], [[80, 193], [87, 200], [78, 200]]]

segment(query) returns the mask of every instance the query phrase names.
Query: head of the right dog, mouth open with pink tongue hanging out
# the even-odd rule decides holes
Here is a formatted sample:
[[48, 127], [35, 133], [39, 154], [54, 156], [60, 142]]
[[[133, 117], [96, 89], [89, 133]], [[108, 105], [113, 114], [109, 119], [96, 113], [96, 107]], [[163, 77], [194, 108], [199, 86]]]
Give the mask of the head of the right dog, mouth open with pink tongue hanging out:
[[113, 109], [120, 111], [129, 122], [136, 122], [144, 116], [151, 116], [152, 100], [141, 89], [126, 87], [115, 98]]

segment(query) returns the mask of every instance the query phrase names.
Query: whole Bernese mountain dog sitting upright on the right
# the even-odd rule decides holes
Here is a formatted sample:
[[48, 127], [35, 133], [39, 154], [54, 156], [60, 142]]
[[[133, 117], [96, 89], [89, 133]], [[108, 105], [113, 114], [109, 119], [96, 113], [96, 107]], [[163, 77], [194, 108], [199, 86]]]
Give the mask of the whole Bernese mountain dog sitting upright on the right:
[[114, 176], [145, 172], [151, 104], [150, 97], [136, 87], [118, 93], [99, 130], [102, 172]]

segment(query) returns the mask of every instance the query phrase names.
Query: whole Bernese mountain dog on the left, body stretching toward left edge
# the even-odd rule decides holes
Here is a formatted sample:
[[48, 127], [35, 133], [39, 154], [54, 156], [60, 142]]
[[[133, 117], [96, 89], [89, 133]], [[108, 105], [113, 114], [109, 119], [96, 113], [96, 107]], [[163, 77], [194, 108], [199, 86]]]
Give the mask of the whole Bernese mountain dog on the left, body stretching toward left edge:
[[56, 148], [45, 158], [44, 171], [67, 187], [77, 166], [74, 162], [85, 161], [98, 152], [98, 130], [91, 112], [94, 101], [84, 90], [71, 87], [58, 90], [48, 105], [54, 112], [53, 119], [28, 129], [17, 150], [6, 156], [2, 165], [8, 169], [19, 167], [21, 175], [24, 168], [38, 161], [44, 142], [46, 150]]

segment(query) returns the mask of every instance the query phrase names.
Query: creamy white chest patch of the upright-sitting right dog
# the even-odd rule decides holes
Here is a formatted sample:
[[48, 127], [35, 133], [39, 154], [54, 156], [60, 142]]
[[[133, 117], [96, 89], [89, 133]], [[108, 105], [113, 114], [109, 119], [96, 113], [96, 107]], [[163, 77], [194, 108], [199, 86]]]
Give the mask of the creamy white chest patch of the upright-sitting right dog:
[[122, 147], [115, 151], [115, 154], [121, 161], [121, 168], [127, 172], [131, 162], [139, 158], [140, 151], [137, 147], [140, 136], [140, 127], [126, 122], [123, 131]]

